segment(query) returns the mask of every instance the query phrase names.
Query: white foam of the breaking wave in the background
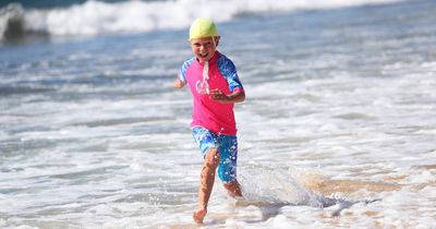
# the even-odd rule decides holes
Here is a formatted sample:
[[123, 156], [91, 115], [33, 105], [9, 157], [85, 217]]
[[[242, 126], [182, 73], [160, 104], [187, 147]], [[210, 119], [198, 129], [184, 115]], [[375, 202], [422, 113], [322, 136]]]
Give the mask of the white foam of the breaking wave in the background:
[[398, 0], [177, 0], [125, 1], [106, 3], [86, 1], [69, 8], [23, 10], [20, 4], [1, 9], [0, 39], [12, 19], [24, 22], [24, 31], [53, 36], [88, 36], [111, 33], [137, 33], [155, 29], [183, 28], [198, 16], [226, 22], [241, 14], [283, 12], [307, 9], [331, 9], [362, 4], [389, 3]]

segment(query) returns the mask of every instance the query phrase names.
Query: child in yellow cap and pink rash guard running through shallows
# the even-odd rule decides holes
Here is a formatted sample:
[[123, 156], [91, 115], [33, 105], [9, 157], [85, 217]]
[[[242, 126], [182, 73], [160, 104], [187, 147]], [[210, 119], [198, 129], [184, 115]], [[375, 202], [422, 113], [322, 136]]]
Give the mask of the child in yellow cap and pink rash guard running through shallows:
[[174, 82], [189, 85], [193, 96], [192, 134], [204, 157], [198, 188], [198, 208], [193, 214], [203, 224], [215, 173], [229, 195], [242, 196], [237, 180], [238, 140], [233, 104], [245, 99], [233, 62], [218, 50], [220, 36], [209, 19], [197, 19], [190, 28], [194, 57], [186, 60]]

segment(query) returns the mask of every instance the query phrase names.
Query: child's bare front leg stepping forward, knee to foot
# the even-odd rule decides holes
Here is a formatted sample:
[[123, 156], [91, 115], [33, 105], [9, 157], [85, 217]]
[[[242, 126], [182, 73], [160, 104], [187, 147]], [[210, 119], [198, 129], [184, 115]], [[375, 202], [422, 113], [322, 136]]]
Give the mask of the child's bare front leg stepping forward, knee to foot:
[[198, 208], [194, 213], [193, 218], [196, 222], [202, 224], [207, 213], [207, 203], [214, 188], [215, 172], [219, 165], [219, 153], [217, 148], [210, 148], [205, 156], [203, 169], [201, 172], [198, 188]]

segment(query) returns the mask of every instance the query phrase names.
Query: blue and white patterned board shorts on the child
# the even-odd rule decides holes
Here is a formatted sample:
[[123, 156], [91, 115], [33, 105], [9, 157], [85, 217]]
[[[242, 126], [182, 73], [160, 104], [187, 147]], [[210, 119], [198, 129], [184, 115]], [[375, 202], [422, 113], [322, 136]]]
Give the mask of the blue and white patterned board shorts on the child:
[[235, 135], [220, 135], [202, 126], [194, 126], [192, 135], [203, 155], [210, 148], [218, 148], [218, 177], [222, 182], [231, 183], [237, 180], [238, 138]]

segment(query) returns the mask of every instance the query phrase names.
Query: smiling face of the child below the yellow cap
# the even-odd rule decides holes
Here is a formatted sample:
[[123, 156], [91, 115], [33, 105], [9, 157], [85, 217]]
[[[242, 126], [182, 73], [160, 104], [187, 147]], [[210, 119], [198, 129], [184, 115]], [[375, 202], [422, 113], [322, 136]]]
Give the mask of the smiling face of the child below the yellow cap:
[[205, 37], [191, 39], [190, 44], [195, 57], [199, 62], [204, 63], [214, 57], [219, 37], [215, 37], [215, 44], [211, 37]]

